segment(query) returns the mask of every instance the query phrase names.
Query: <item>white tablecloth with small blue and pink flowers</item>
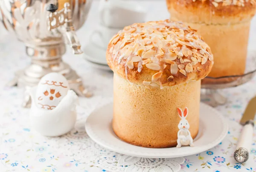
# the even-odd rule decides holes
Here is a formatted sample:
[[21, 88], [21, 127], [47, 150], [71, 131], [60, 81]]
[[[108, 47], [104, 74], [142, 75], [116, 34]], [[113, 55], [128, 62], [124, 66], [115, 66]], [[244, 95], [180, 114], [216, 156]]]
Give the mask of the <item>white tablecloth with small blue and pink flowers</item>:
[[[149, 11], [159, 9], [154, 7], [160, 5], [163, 6], [164, 1], [145, 3]], [[87, 23], [79, 31], [82, 43], [86, 43], [88, 36], [83, 33], [91, 30], [90, 27], [95, 25], [93, 12], [96, 11], [97, 3], [94, 3], [92, 8], [94, 9], [91, 10]], [[160, 19], [168, 18], [167, 11], [163, 10], [161, 13], [163, 14]], [[154, 13], [150, 13], [149, 18], [155, 20]], [[255, 23], [253, 22], [252, 27]], [[253, 37], [255, 34], [251, 35]], [[123, 158], [122, 155], [100, 147], [88, 137], [84, 130], [84, 121], [90, 112], [97, 106], [111, 101], [113, 74], [90, 67], [81, 57], [66, 54], [64, 61], [76, 68], [83, 78], [84, 85], [93, 91], [94, 96], [90, 99], [79, 98], [82, 107], [78, 109], [76, 127], [70, 133], [55, 138], [41, 136], [30, 128], [29, 109], [20, 106], [23, 89], [5, 86], [14, 76], [15, 70], [29, 64], [23, 44], [10, 37], [11, 35], [7, 34], [0, 25], [0, 172], [128, 171], [125, 169], [128, 166], [118, 164], [120, 158]], [[250, 150], [250, 159], [241, 164], [233, 158], [233, 152], [241, 132], [239, 120], [247, 102], [256, 96], [256, 78], [242, 86], [226, 89], [223, 93], [227, 96], [228, 102], [216, 109], [221, 111], [229, 122], [227, 137], [218, 146], [208, 151], [184, 157], [185, 162], [181, 165], [181, 172], [256, 172], [255, 134]], [[256, 129], [254, 131], [256, 133]], [[136, 170], [146, 172], [152, 171], [152, 169], [147, 169], [145, 165], [150, 166], [157, 162], [165, 165], [171, 160], [149, 159], [145, 162], [145, 159], [135, 158], [133, 161], [136, 168], [131, 169], [131, 172]], [[162, 171], [154, 168], [154, 172]]]

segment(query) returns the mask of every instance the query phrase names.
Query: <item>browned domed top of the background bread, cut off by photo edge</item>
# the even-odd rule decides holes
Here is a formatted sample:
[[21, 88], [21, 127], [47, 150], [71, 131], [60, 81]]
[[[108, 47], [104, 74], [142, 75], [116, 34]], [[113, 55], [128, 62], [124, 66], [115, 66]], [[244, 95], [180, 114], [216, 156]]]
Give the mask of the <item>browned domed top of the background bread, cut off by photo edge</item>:
[[172, 20], [189, 23], [239, 23], [251, 20], [256, 11], [256, 0], [166, 0], [166, 4]]

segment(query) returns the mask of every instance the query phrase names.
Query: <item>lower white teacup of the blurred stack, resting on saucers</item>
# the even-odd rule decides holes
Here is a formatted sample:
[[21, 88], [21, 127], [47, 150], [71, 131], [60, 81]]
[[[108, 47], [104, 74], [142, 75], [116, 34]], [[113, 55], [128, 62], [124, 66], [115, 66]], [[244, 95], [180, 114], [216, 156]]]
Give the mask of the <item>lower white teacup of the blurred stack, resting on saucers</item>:
[[95, 46], [107, 50], [108, 43], [110, 39], [117, 34], [122, 28], [108, 28], [102, 25], [99, 25], [96, 30], [90, 36], [90, 42]]

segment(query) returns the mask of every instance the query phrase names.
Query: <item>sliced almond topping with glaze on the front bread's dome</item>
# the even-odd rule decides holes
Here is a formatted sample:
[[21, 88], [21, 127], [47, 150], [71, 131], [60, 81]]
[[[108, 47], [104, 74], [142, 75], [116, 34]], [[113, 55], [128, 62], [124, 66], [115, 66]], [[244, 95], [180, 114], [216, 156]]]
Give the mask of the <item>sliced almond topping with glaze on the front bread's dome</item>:
[[[245, 1], [250, 0], [211, 0], [213, 1], [221, 2], [222, 6], [223, 2], [227, 3], [227, 1], [232, 1], [233, 5], [241, 4], [242, 6]], [[253, 1], [256, 2], [256, 0]], [[112, 44], [110, 43], [108, 53], [113, 56], [114, 62], [126, 62], [126, 70], [134, 69], [136, 66], [138, 72], [142, 71], [145, 65], [148, 69], [157, 72], [151, 78], [153, 81], [159, 80], [164, 69], [169, 67], [168, 64], [170, 64], [168, 70], [172, 73], [169, 79], [173, 79], [179, 71], [187, 76], [187, 73], [196, 71], [197, 67], [204, 65], [208, 59], [213, 62], [209, 46], [196, 34], [195, 30], [181, 23], [166, 21], [135, 23], [119, 31], [110, 42]], [[160, 88], [163, 87], [161, 83], [155, 84], [160, 85]], [[150, 85], [150, 87], [153, 86]]]

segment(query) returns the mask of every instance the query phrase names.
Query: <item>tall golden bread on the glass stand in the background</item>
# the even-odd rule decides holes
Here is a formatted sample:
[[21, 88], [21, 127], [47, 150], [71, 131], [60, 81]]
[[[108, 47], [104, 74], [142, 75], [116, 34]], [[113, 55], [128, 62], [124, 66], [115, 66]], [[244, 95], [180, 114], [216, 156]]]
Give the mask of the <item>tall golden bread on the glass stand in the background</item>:
[[209, 76], [244, 74], [256, 0], [166, 0], [166, 3], [171, 20], [198, 30], [211, 47], [214, 66]]

